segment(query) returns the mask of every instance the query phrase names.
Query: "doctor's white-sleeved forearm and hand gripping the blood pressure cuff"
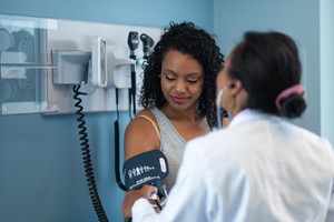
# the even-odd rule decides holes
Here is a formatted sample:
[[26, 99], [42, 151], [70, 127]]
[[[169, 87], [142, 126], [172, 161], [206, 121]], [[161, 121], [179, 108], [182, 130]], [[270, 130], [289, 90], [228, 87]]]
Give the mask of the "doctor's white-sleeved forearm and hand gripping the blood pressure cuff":
[[205, 183], [205, 164], [202, 153], [194, 145], [186, 147], [184, 163], [179, 170], [175, 186], [171, 189], [166, 205], [156, 213], [148, 199], [153, 186], [145, 185], [130, 191], [124, 199], [124, 215], [134, 215], [136, 221], [206, 221], [208, 192]]

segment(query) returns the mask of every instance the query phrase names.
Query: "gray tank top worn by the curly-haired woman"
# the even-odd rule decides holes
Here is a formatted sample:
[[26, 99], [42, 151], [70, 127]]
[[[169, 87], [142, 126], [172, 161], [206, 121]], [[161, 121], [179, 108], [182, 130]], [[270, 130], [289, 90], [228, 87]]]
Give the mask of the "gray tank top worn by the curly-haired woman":
[[158, 108], [153, 108], [150, 110], [158, 122], [160, 130], [160, 150], [166, 155], [169, 165], [169, 174], [163, 181], [163, 184], [166, 185], [167, 191], [169, 192], [175, 183], [187, 142]]

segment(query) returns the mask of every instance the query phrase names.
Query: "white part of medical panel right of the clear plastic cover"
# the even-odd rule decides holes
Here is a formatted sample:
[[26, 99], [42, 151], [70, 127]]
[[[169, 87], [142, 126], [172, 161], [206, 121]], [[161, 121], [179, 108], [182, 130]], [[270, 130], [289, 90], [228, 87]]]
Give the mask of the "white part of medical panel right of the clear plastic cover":
[[49, 70], [48, 74], [52, 78], [48, 78], [47, 87], [42, 88], [50, 111], [46, 113], [75, 112], [75, 83], [82, 83], [81, 91], [86, 93], [81, 97], [84, 111], [116, 110], [116, 88], [119, 91], [118, 109], [128, 110], [131, 65], [136, 67], [138, 92], [144, 57], [143, 42], [139, 41], [136, 60], [130, 59], [128, 36], [131, 31], [149, 34], [155, 42], [161, 34], [161, 30], [156, 28], [71, 20], [58, 20], [57, 29], [47, 30], [48, 61], [56, 69]]

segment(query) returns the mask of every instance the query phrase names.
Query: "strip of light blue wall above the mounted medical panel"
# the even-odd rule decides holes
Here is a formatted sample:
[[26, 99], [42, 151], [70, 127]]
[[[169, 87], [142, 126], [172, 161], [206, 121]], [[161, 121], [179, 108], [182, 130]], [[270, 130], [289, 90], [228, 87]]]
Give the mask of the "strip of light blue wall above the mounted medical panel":
[[212, 0], [0, 0], [0, 12], [157, 28], [191, 20], [213, 30]]

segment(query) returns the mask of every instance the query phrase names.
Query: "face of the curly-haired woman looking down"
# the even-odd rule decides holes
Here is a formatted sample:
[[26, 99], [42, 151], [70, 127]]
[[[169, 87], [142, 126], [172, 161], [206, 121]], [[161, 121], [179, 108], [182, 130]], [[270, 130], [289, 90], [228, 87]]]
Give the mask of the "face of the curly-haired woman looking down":
[[196, 109], [204, 85], [204, 70], [189, 54], [166, 53], [161, 64], [161, 91], [171, 109]]

